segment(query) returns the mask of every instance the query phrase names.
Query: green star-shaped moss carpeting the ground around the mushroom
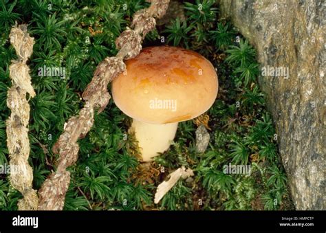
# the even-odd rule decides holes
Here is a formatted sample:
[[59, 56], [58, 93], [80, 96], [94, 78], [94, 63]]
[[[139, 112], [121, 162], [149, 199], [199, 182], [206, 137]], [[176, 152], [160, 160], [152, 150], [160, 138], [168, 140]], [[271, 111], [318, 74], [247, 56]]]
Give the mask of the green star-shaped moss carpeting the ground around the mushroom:
[[[160, 45], [158, 36], [164, 36], [169, 45], [193, 49], [217, 67], [219, 96], [208, 111], [207, 151], [196, 153], [197, 126], [193, 121], [182, 122], [169, 151], [142, 167], [135, 140], [127, 136], [130, 120], [110, 100], [105, 111], [95, 116], [87, 137], [78, 141], [79, 159], [69, 168], [72, 182], [65, 210], [293, 209], [274, 126], [257, 85], [256, 52], [228, 21], [217, 20], [214, 2], [184, 3], [185, 22], [172, 19], [144, 41], [144, 46]], [[146, 5], [144, 1], [113, 0], [53, 1], [52, 5], [36, 0], [0, 1], [0, 164], [8, 162], [6, 91], [11, 85], [8, 65], [15, 57], [8, 35], [14, 21], [28, 23], [36, 39], [29, 63], [37, 91], [30, 101], [30, 164], [34, 188], [39, 188], [55, 169], [51, 164], [57, 155], [51, 148], [64, 122], [83, 106], [80, 94], [96, 65], [116, 54], [116, 37], [130, 25], [131, 15]], [[43, 65], [65, 67], [67, 78], [38, 76]], [[251, 175], [224, 174], [224, 165], [229, 163], [250, 165]], [[153, 204], [155, 187], [180, 166], [192, 168], [195, 177], [178, 181], [160, 203]], [[16, 210], [19, 198], [7, 175], [0, 175], [0, 209]]]

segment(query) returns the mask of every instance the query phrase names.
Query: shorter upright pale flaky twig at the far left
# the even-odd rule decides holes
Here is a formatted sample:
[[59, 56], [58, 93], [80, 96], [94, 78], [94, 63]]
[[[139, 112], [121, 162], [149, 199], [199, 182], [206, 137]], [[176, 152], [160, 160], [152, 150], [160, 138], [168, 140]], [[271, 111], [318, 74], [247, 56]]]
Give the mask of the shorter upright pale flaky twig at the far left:
[[12, 60], [9, 67], [12, 87], [8, 91], [7, 105], [11, 110], [6, 125], [7, 144], [10, 157], [10, 183], [12, 187], [23, 194], [19, 200], [19, 210], [36, 210], [39, 199], [36, 190], [32, 188], [33, 172], [28, 164], [30, 142], [28, 140], [28, 121], [30, 119], [30, 105], [26, 100], [26, 93], [30, 98], [35, 96], [31, 85], [30, 69], [26, 61], [32, 55], [34, 38], [27, 32], [27, 25], [15, 25], [10, 32], [10, 43], [17, 53], [17, 60]]

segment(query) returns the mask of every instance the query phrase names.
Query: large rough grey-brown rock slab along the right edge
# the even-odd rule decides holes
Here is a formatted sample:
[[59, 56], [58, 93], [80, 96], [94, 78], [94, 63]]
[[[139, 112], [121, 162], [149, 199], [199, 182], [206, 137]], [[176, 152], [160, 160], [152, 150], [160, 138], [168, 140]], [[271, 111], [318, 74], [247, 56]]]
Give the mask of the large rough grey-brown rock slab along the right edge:
[[257, 49], [262, 69], [288, 68], [289, 76], [261, 76], [279, 151], [297, 210], [325, 210], [325, 1], [219, 0]]

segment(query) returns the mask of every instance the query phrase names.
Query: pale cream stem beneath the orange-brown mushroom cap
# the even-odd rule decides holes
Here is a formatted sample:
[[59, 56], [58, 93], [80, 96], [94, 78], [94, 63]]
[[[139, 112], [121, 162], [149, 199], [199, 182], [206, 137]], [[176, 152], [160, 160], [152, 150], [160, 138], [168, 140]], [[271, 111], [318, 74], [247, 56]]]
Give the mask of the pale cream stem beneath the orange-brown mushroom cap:
[[149, 124], [133, 119], [131, 130], [135, 132], [143, 161], [150, 162], [170, 147], [177, 132], [177, 122]]

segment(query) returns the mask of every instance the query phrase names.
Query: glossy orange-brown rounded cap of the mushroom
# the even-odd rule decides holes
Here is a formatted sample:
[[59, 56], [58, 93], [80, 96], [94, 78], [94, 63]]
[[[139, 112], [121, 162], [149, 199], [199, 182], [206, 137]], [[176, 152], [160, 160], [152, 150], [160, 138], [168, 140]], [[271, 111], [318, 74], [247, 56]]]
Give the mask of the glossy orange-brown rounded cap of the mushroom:
[[207, 111], [217, 97], [215, 68], [204, 56], [180, 47], [146, 47], [126, 61], [112, 82], [118, 108], [151, 124], [182, 122]]

